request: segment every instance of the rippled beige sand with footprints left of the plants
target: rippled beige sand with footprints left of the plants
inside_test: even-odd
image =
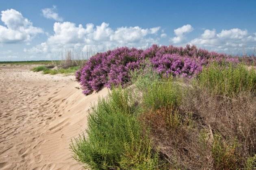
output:
[[[91,104],[108,90],[84,96],[74,76],[32,67],[0,65],[0,169],[83,169],[69,144],[86,129]]]

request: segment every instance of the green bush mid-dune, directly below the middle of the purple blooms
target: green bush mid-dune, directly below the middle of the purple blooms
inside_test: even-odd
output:
[[[161,78],[152,68],[135,71],[132,77],[137,94],[143,94],[141,100],[145,110],[177,106],[180,102],[182,90],[173,78]]]

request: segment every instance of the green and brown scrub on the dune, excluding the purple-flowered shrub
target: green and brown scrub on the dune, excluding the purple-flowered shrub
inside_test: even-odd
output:
[[[146,63],[93,106],[73,156],[92,169],[253,170],[255,73],[213,62],[187,79]]]

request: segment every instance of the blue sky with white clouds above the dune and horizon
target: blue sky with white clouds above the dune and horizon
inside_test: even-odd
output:
[[[0,61],[152,44],[256,55],[256,0],[2,0]]]

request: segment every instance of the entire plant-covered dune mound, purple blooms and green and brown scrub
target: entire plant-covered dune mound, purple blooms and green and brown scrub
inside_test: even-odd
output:
[[[112,90],[70,144],[91,169],[256,168],[255,57],[187,46],[118,48],[76,72],[86,95]]]

